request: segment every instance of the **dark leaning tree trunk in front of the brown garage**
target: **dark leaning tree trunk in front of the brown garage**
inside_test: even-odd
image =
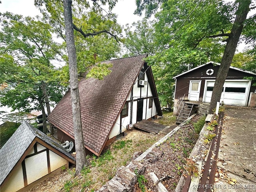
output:
[[[220,101],[222,87],[228,75],[230,64],[236,52],[236,47],[242,33],[244,21],[246,20],[246,16],[250,10],[250,3],[251,0],[239,1],[238,9],[236,11],[236,19],[231,29],[230,36],[228,37],[227,45],[221,60],[214,88],[212,90],[209,113],[212,113],[212,110],[216,108],[217,102]]]

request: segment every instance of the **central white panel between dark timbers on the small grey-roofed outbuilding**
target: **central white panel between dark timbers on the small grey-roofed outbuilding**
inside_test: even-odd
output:
[[[48,174],[46,151],[25,159],[28,184]]]

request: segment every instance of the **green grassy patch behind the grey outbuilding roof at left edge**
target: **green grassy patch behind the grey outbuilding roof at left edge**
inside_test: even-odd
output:
[[[0,128],[0,148],[10,139],[12,134],[18,129],[20,123],[6,121]]]

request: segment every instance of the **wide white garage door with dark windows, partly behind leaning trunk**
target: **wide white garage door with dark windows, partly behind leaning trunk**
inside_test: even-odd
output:
[[[210,103],[214,82],[212,80],[206,80],[204,102]],[[249,88],[250,80],[226,80],[222,88],[220,102],[223,101],[227,105],[246,106]]]

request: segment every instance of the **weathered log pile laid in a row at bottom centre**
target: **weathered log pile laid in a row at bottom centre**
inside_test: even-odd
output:
[[[132,192],[137,183],[137,175],[144,174],[145,166],[140,162],[130,162],[126,167],[118,168],[116,175],[103,185],[97,192]]]

